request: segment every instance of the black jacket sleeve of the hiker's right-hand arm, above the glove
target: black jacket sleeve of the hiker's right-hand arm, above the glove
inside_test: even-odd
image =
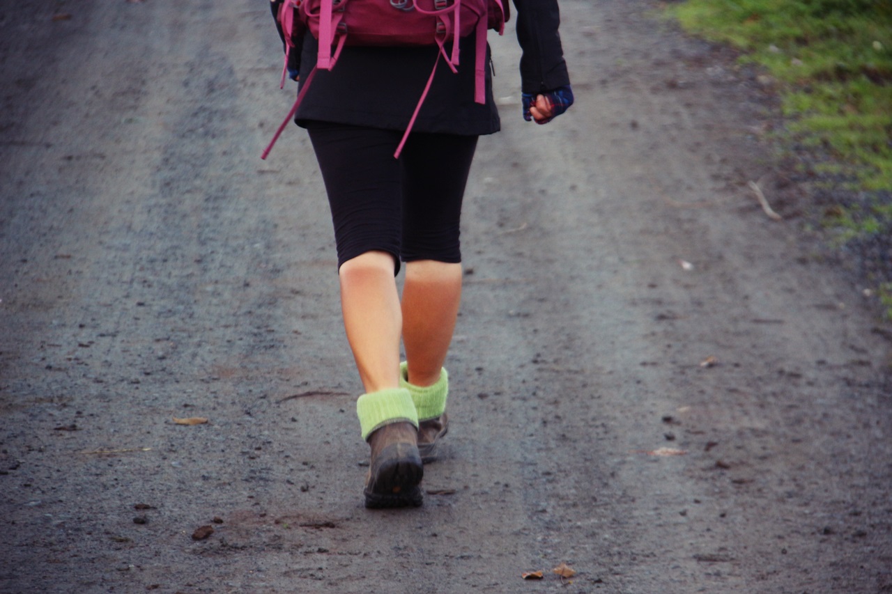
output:
[[[558,0],[514,0],[521,90],[538,94],[570,84],[558,27]]]

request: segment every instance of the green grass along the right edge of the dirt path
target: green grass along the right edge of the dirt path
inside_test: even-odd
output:
[[[685,0],[666,10],[690,33],[739,48],[740,62],[777,82],[787,120],[781,144],[813,154],[823,189],[858,196],[824,216],[835,243],[887,241],[892,0]],[[892,319],[892,278],[870,280]]]

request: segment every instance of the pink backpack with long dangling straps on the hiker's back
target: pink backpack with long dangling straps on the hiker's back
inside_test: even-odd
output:
[[[501,35],[508,20],[509,0],[285,0],[277,21],[285,34],[285,67],[282,83],[285,85],[285,68],[288,52],[300,52],[295,47],[292,34],[295,28],[306,27],[319,40],[318,60],[307,79],[303,81],[291,111],[279,126],[261,159],[266,159],[273,144],[293,119],[294,113],[310,88],[318,69],[332,70],[344,45],[439,45],[440,51],[434,62],[434,70],[427,79],[425,90],[418,100],[415,112],[409,120],[405,134],[397,147],[394,158],[399,157],[406,144],[409,131],[425,102],[427,92],[434,81],[434,73],[440,58],[446,60],[450,70],[457,72],[458,39],[475,35],[475,96],[476,103],[485,102],[486,80],[486,31],[495,29]],[[452,42],[451,52],[446,43]]]

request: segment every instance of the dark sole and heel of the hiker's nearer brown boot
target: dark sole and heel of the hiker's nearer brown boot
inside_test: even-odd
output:
[[[425,466],[414,443],[392,443],[378,454],[368,472],[363,494],[366,507],[419,507],[424,494],[418,486]]]

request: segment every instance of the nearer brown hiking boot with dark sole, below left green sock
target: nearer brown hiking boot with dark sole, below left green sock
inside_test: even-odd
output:
[[[409,422],[391,423],[368,436],[371,467],[366,476],[366,507],[418,507],[424,495],[425,467],[418,453],[417,429]]]

